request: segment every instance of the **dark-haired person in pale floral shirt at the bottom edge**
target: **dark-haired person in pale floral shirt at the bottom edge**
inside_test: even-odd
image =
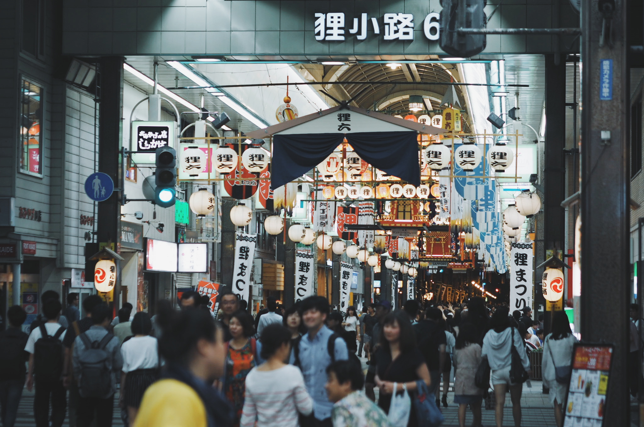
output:
[[[328,366],[325,389],[334,403],[334,427],[389,427],[383,410],[359,391],[363,385],[365,376],[359,359],[340,360]]]

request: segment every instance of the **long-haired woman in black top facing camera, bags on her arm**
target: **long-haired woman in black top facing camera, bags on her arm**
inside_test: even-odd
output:
[[[403,385],[407,392],[416,390],[416,381],[422,379],[430,385],[430,371],[427,368],[421,350],[416,345],[412,323],[403,312],[387,314],[383,320],[383,333],[380,336],[380,347],[375,352],[375,383],[380,388],[378,406],[389,412],[392,401],[393,383],[397,383],[395,392],[402,393]],[[416,413],[412,408],[408,427],[416,427]]]

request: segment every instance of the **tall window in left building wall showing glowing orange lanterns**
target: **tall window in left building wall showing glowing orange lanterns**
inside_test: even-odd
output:
[[[43,147],[43,88],[21,80],[19,146],[20,170],[42,175],[41,149]]]

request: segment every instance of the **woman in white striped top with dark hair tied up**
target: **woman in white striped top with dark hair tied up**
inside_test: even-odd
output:
[[[261,358],[266,361],[246,376],[240,427],[297,427],[298,412],[309,415],[313,411],[302,373],[285,363],[290,336],[279,323],[261,331]]]

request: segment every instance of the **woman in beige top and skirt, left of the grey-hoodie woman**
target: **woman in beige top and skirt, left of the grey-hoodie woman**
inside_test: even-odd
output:
[[[484,390],[474,383],[478,365],[481,363],[481,346],[473,325],[464,323],[454,346],[454,403],[459,405],[459,426],[465,427],[465,411],[472,410],[472,427],[481,425],[481,400]]]

